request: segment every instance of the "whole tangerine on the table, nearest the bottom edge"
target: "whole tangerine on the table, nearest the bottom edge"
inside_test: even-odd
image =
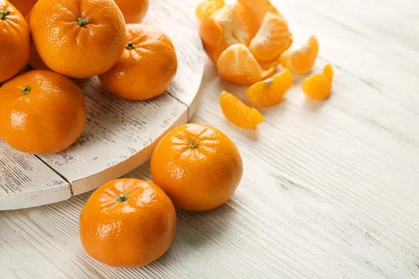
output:
[[[139,267],[161,257],[176,231],[176,211],[153,183],[110,181],[94,191],[80,213],[84,250],[103,264]]]

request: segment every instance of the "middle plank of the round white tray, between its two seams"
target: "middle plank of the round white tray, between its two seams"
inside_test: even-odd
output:
[[[135,102],[105,92],[97,77],[76,83],[89,112],[83,135],[65,151],[39,156],[66,177],[74,195],[138,167],[149,159],[160,137],[188,121],[188,107],[168,94]]]

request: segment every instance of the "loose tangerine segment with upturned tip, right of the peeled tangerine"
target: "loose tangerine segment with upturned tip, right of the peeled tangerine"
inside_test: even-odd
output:
[[[304,45],[297,50],[286,50],[281,55],[281,64],[291,73],[304,75],[311,71],[318,54],[318,41],[311,35]]]

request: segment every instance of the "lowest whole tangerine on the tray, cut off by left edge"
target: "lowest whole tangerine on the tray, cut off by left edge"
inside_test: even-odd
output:
[[[86,107],[67,77],[32,70],[0,88],[0,139],[22,152],[63,151],[82,135]]]

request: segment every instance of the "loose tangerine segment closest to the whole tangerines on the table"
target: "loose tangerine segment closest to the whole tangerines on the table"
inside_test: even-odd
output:
[[[226,119],[235,126],[254,128],[263,122],[263,116],[258,110],[244,105],[244,103],[227,91],[221,93],[220,105]]]

